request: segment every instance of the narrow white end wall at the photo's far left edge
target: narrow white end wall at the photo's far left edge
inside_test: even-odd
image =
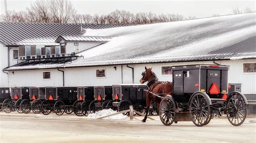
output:
[[[3,73],[3,68],[8,66],[8,47],[0,43],[0,87],[8,87],[8,75]]]

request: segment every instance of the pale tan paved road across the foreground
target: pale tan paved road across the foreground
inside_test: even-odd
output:
[[[164,126],[159,120],[96,120],[74,116],[0,113],[0,142],[255,142],[256,121],[232,126],[224,117],[204,127],[191,121]],[[141,117],[137,117],[141,118]],[[158,119],[158,117],[155,117]]]

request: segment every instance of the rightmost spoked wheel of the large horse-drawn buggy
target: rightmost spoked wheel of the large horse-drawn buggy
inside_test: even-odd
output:
[[[246,118],[246,102],[240,92],[232,92],[227,98],[227,119],[234,126],[244,123]]]

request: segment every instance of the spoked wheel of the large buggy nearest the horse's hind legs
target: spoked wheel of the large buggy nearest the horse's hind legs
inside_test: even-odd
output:
[[[159,116],[165,126],[170,126],[175,119],[175,107],[170,97],[164,97],[160,102]]]

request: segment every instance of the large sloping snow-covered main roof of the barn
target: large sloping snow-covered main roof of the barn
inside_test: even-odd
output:
[[[82,54],[84,59],[50,67],[256,58],[256,13],[102,30],[84,36],[109,36],[111,41]],[[35,68],[46,68],[48,65]],[[10,67],[9,69],[28,69]]]

